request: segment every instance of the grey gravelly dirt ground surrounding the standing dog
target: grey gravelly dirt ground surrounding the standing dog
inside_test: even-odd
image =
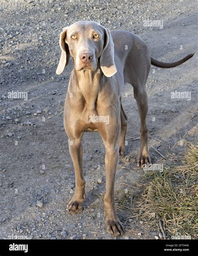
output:
[[[118,238],[107,233],[105,152],[98,133],[83,137],[84,210],[75,216],[66,212],[75,177],[63,128],[63,106],[73,63],[56,76],[59,34],[75,21],[90,19],[109,29],[135,32],[157,60],[172,62],[195,52],[176,68],[152,66],[147,80],[150,156],[152,162],[162,163],[162,154],[166,167],[171,156],[185,150],[185,141],[197,139],[196,1],[1,2],[0,238],[154,239],[157,230],[146,230],[144,223],[128,219],[119,209],[126,232]],[[163,20],[163,28],[143,26],[147,18]],[[28,92],[28,100],[9,99],[12,90]],[[171,98],[175,90],[190,92],[191,99]],[[128,128],[125,157],[116,176],[117,196],[127,185],[140,183],[144,175],[144,170],[136,167],[140,118],[132,86],[126,84],[122,102]],[[141,236],[137,235],[140,232]]]

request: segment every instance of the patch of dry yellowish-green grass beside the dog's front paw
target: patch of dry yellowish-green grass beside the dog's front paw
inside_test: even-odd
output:
[[[163,237],[190,235],[198,238],[198,144],[188,143],[179,164],[164,168],[162,173],[148,171],[145,184],[129,188],[122,194],[117,208],[127,218],[142,220],[148,228],[162,232]],[[139,193],[137,201],[133,196]]]

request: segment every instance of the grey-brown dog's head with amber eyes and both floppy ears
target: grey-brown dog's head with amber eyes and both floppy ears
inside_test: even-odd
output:
[[[76,22],[63,29],[59,43],[62,52],[57,75],[68,65],[70,55],[76,71],[95,71],[99,62],[105,76],[110,77],[117,72],[111,34],[100,24],[94,21]]]

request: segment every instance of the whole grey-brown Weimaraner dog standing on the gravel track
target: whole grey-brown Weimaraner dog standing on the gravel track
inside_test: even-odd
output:
[[[124,83],[132,84],[140,113],[140,155],[138,167],[150,162],[147,148],[146,81],[150,66],[173,68],[184,63],[190,54],[174,63],[163,63],[150,56],[145,42],[125,30],[104,28],[94,21],[81,21],[63,29],[60,34],[61,58],[56,70],[63,72],[74,60],[64,110],[64,127],[69,137],[69,152],[74,163],[76,189],[67,208],[70,214],[80,213],[85,200],[83,149],[85,131],[97,131],[104,142],[106,192],[104,214],[107,231],[123,235],[124,227],[114,207],[114,181],[119,157],[124,154],[127,115],[122,107]],[[107,120],[109,120],[107,122]]]

